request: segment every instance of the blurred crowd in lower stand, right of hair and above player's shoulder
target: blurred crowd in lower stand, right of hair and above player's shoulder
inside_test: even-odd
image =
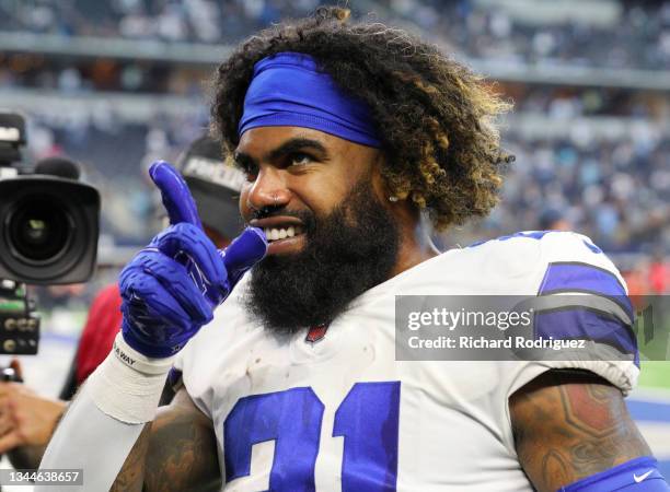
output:
[[[501,204],[480,234],[553,229],[561,216],[609,253],[670,251],[670,140],[639,132],[625,139],[528,140],[507,134],[517,155]]]

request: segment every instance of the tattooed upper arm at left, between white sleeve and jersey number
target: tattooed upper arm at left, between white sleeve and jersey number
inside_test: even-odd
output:
[[[111,491],[181,492],[220,487],[211,421],[182,388],[146,425]]]

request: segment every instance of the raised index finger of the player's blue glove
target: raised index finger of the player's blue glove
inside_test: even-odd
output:
[[[170,223],[187,222],[201,230],[198,209],[182,175],[165,161],[157,161],[151,164],[149,176],[161,191]]]

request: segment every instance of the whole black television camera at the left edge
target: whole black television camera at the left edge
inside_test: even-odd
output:
[[[100,230],[100,194],[77,164],[22,162],[25,120],[0,110],[0,353],[35,354],[39,317],[26,284],[86,281]]]

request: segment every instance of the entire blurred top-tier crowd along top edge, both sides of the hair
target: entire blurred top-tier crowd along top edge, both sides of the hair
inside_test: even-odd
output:
[[[337,2],[2,0],[0,31],[230,43],[282,17],[303,15],[322,3]],[[588,4],[578,0],[573,5],[544,2],[555,3],[546,19],[542,17],[542,5],[529,15],[520,3],[367,0],[351,2],[351,7],[358,15],[383,11],[388,20],[411,22],[425,35],[474,58],[610,68],[658,69],[670,65],[670,1],[601,1],[600,15],[591,15]]]

